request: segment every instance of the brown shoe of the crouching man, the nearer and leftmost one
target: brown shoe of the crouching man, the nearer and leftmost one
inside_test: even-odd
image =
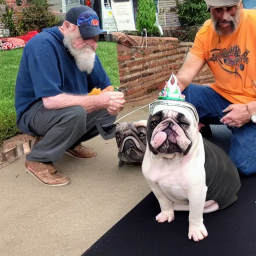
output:
[[[36,177],[41,183],[49,186],[66,186],[71,180],[58,172],[51,163],[25,160],[27,173]]]

